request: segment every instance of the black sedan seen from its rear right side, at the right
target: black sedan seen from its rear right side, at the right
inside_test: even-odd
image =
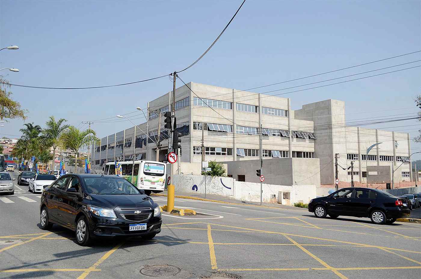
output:
[[[381,190],[343,188],[329,196],[312,199],[309,212],[319,218],[329,215],[370,217],[375,224],[392,224],[397,218],[408,217],[410,209],[405,199],[399,199]]]

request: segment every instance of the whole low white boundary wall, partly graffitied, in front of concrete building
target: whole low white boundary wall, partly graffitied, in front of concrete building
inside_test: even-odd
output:
[[[177,192],[205,193],[204,175],[173,175],[172,183]],[[277,202],[279,192],[290,193],[290,204],[308,203],[316,197],[316,185],[262,184],[263,202]],[[260,183],[240,182],[231,177],[206,177],[206,193],[229,196],[240,201],[260,201]]]

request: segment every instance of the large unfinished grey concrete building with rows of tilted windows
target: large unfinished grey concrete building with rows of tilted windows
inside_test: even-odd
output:
[[[201,162],[203,134],[205,161],[224,161],[227,164],[229,161],[258,161],[262,153],[264,159],[280,158],[277,175],[290,176],[289,184],[297,181],[293,179],[292,169],[303,175],[309,173],[308,179],[311,180],[310,176],[314,174],[310,168],[313,171],[314,162],[317,161],[319,168],[316,168],[316,172],[320,172],[320,177],[316,182],[331,185],[335,178],[335,153],[339,154],[339,164],[343,167],[348,167],[351,162],[347,158],[355,161],[354,180],[359,182],[366,179],[366,163],[368,166],[393,165],[396,169],[402,157],[406,160],[405,156],[410,155],[409,134],[346,126],[345,103],[342,101],[330,99],[315,102],[294,111],[291,110],[289,98],[193,82],[187,85],[177,88],[175,92],[177,129],[183,135],[179,156],[181,162]],[[100,146],[92,147],[92,167],[100,169],[107,161],[128,161],[133,157],[155,160],[158,115],[171,110],[171,98],[172,94],[168,92],[148,102],[148,123],[103,137]],[[163,117],[161,123],[163,147],[158,157],[164,161],[168,153],[168,134],[163,129]],[[363,155],[366,148],[376,142],[383,143],[379,149],[371,150],[368,160],[365,160]],[[302,159],[285,161],[284,158]],[[290,168],[281,167],[285,162]],[[230,169],[237,167],[238,164],[229,164],[227,173],[234,176],[234,169],[232,173]],[[339,180],[349,182],[351,176],[348,174],[349,170],[340,169]],[[394,174],[396,181],[410,180],[410,163],[403,164]],[[254,176],[252,181],[256,182],[255,169],[251,176]],[[306,177],[301,175],[301,178],[303,185],[309,184]]]

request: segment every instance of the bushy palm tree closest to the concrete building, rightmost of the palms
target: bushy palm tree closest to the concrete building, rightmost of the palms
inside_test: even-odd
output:
[[[64,149],[70,149],[75,152],[75,173],[77,172],[77,156],[79,155],[79,149],[89,146],[96,142],[100,145],[100,139],[96,137],[96,132],[87,129],[85,131],[80,131],[75,126],[69,126],[69,128],[64,131],[60,138],[61,145]]]

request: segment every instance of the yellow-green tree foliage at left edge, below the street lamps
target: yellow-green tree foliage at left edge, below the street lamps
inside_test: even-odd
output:
[[[27,117],[25,113],[27,110],[21,109],[21,104],[19,102],[13,101],[11,98],[12,92],[9,91],[10,83],[8,80],[3,79],[3,76],[0,76],[0,119],[15,119],[21,118],[25,120]]]

